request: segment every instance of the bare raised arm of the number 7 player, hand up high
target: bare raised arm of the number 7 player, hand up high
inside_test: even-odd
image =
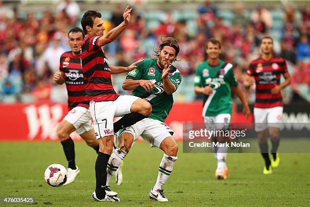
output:
[[[129,9],[129,6],[127,6],[123,14],[124,21],[121,24],[119,24],[117,27],[111,29],[106,35],[99,38],[98,40],[99,47],[114,41],[116,38],[118,38],[118,36],[120,36],[120,34],[123,32],[123,30],[126,28],[128,23],[130,22],[131,11],[132,11],[132,8]]]

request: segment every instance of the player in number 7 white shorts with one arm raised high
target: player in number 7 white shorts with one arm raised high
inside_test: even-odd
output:
[[[96,11],[87,11],[81,20],[82,28],[86,33],[81,47],[81,63],[84,76],[88,83],[85,86],[86,100],[90,100],[90,111],[94,121],[95,135],[99,141],[99,153],[95,164],[96,189],[92,198],[96,201],[120,201],[116,196],[106,194],[107,163],[114,161],[110,154],[113,150],[113,134],[120,129],[131,126],[146,118],[151,113],[151,105],[146,100],[132,95],[119,96],[113,89],[111,74],[129,72],[135,69],[137,64],[129,67],[115,67],[108,64],[102,46],[114,41],[130,22],[132,9],[127,6],[123,17],[124,21],[113,28],[106,35],[101,19],[101,14]],[[115,122],[114,117],[122,119]],[[124,156],[126,148],[115,149],[117,156]]]

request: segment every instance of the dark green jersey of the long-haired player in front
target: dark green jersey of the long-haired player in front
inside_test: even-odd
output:
[[[164,91],[162,74],[163,71],[157,66],[156,59],[144,59],[143,62],[137,65],[137,68],[128,73],[126,79],[151,80],[154,83],[154,89],[149,92],[138,86],[131,94],[145,98],[150,102],[152,113],[148,118],[164,122],[172,108],[173,95],[168,95]],[[182,80],[180,71],[171,66],[168,77],[171,83],[178,88]]]

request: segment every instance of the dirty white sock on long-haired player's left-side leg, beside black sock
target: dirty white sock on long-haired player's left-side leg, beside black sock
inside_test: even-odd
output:
[[[114,149],[114,152],[111,154],[111,157],[106,167],[107,172],[106,185],[109,185],[112,175],[114,175],[116,171],[119,169],[126,155],[127,153],[121,150],[120,148]]]

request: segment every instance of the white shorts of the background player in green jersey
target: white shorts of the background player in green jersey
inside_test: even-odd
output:
[[[230,119],[230,114],[219,114],[215,117],[204,117],[205,127],[207,130],[228,129]]]

